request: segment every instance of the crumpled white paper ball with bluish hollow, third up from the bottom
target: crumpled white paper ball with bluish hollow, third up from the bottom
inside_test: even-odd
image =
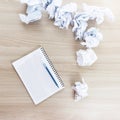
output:
[[[85,42],[81,42],[81,45],[85,45],[87,48],[94,48],[99,45],[103,35],[97,28],[91,27],[84,33],[83,39]]]

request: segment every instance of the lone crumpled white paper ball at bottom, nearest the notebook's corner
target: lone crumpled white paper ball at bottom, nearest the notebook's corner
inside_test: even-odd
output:
[[[75,82],[72,89],[74,90],[75,101],[79,101],[88,96],[88,85],[84,81],[84,78],[82,78],[82,83]]]

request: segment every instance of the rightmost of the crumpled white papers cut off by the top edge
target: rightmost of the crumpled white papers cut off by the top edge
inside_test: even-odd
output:
[[[61,6],[62,0],[53,0],[51,4],[46,8],[47,13],[49,14],[49,19],[53,19],[55,17],[55,12]]]

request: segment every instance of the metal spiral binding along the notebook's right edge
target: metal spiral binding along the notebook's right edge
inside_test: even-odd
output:
[[[54,68],[54,66],[53,66],[51,60],[49,59],[46,51],[45,51],[44,48],[42,48],[42,47],[41,47],[40,49],[41,49],[42,53],[44,54],[46,60],[48,61],[49,65],[51,66],[52,70],[54,71],[54,73],[55,73],[56,77],[58,78],[60,84],[62,85],[62,87],[64,87],[64,83],[63,83],[62,79],[60,78],[60,76],[58,75],[56,69]]]

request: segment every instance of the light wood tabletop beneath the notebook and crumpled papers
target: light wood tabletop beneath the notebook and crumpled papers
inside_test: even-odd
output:
[[[19,0],[0,1],[0,120],[120,120],[120,1],[64,0],[109,7],[116,21],[98,28],[104,35],[95,52],[97,62],[79,67],[75,52],[79,41],[71,28],[61,30],[44,13],[41,21],[25,25],[18,14],[25,12]],[[11,63],[42,45],[65,83],[65,89],[35,106]],[[89,96],[74,102],[72,84],[85,78]]]

